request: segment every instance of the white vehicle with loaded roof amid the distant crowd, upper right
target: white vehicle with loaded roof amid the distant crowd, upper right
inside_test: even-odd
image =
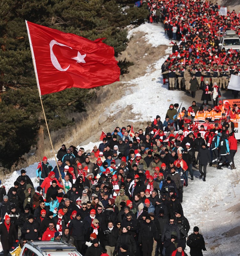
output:
[[[234,30],[226,30],[226,34],[222,36],[219,49],[222,50],[223,47],[226,51],[231,48],[237,52],[240,50],[240,39]]]

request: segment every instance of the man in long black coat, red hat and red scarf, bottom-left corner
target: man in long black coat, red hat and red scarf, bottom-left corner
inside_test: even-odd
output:
[[[3,221],[3,220],[2,220]],[[0,225],[0,236],[1,243],[3,246],[3,255],[7,256],[9,250],[13,246],[13,241],[18,242],[18,233],[13,224],[10,223],[10,217],[8,215],[5,216],[5,220]]]

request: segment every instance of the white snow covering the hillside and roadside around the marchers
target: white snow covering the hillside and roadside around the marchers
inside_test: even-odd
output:
[[[156,47],[161,44],[169,45],[170,41],[165,37],[161,25],[144,24],[129,32],[129,38],[136,32],[143,31],[146,34],[146,40]],[[168,48],[166,54],[171,52]],[[153,120],[156,115],[165,116],[170,103],[180,102],[183,92],[168,91],[167,86],[162,84],[160,68],[165,59],[160,59],[148,68],[145,76],[138,77],[126,83],[125,96],[111,105],[110,115],[115,115],[128,105],[132,105],[132,112],[135,119],[148,121]],[[153,69],[156,71],[152,71]],[[134,88],[132,85],[135,84]],[[183,102],[190,106],[189,97],[185,97]],[[134,104],[132,104],[134,102]],[[109,108],[110,109],[110,108]],[[135,120],[127,120],[135,122]],[[113,127],[114,128],[114,127]],[[85,149],[92,150],[94,145],[100,142],[90,142],[88,145],[81,145]],[[189,181],[189,186],[184,188],[183,193],[183,211],[185,217],[190,222],[190,233],[193,227],[198,226],[206,242],[207,251],[204,255],[240,255],[240,157],[239,152],[235,156],[236,170],[231,171],[228,168],[216,170],[213,167],[207,167],[206,182],[199,180],[199,172],[194,172],[194,180]],[[54,159],[49,159],[54,167]],[[33,180],[35,187],[38,186],[35,180],[35,170],[38,163],[28,166],[25,170],[27,175]],[[13,182],[20,175],[20,170],[13,172],[2,183],[6,189],[12,187]],[[186,248],[189,254],[189,247]]]

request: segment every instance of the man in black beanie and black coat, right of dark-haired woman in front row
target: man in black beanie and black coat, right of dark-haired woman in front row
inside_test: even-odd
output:
[[[157,244],[158,230],[156,225],[151,221],[151,217],[148,215],[140,228],[138,243],[142,245],[143,255],[151,256],[153,244]]]

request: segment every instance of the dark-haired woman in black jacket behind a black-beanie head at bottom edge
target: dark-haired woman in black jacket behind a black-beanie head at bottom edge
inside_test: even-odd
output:
[[[132,253],[136,252],[136,243],[132,235],[129,234],[128,227],[122,228],[122,233],[118,237],[117,243],[115,245],[115,251],[119,252],[122,244],[128,245],[128,250]]]

